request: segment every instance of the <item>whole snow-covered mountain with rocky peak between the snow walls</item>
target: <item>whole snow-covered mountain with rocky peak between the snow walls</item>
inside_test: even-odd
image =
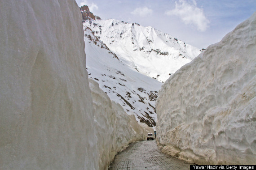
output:
[[[129,115],[154,127],[161,82],[201,51],[152,27],[101,20],[87,6],[80,9],[89,77]]]

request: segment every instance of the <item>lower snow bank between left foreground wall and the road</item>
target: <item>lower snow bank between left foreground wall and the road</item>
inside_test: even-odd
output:
[[[99,169],[107,170],[117,152],[133,141],[145,140],[147,133],[154,130],[145,123],[139,125],[134,115],[127,115],[121,105],[111,102],[96,81],[89,79],[89,85],[95,109]]]

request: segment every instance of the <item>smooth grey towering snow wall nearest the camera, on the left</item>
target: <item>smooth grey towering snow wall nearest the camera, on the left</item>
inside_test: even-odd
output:
[[[1,0],[0,16],[0,169],[98,169],[75,0]]]

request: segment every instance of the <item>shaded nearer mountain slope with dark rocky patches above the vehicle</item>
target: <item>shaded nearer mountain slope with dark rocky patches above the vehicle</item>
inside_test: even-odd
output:
[[[124,107],[137,121],[154,127],[155,100],[162,83],[129,68],[84,26],[86,66],[89,77],[97,81],[111,100]]]

